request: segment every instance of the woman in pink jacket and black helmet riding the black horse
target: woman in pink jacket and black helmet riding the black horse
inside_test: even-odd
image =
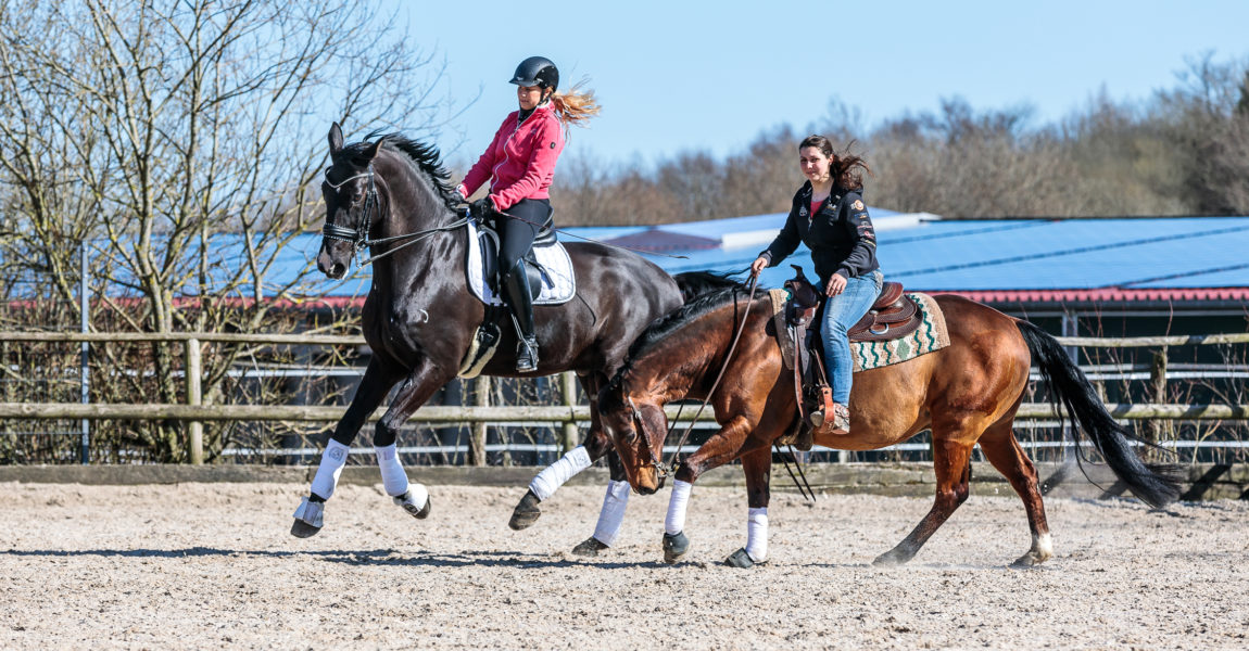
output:
[[[592,91],[556,92],[560,71],[548,59],[531,56],[512,75],[520,110],[508,113],[477,163],[465,175],[456,192],[467,198],[490,181],[490,193],[472,202],[473,211],[496,219],[500,268],[507,303],[516,321],[520,344],[516,370],[527,373],[538,365],[533,335],[533,298],[525,273],[525,256],[538,232],[551,226],[551,180],[563,151],[565,128],[598,113]]]

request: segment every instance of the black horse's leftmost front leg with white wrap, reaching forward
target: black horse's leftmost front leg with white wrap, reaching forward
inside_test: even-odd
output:
[[[310,538],[321,531],[325,500],[333,495],[333,490],[338,485],[338,475],[342,473],[342,466],[347,464],[351,441],[356,439],[365,420],[382,403],[396,380],[397,375],[385,368],[377,357],[368,362],[365,375],[356,388],[356,395],[351,398],[351,405],[347,407],[347,413],[338,420],[337,427],[333,428],[333,435],[326,441],[309,495],[304,498],[295,511],[291,535]]]

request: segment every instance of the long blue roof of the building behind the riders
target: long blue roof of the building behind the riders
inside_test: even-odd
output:
[[[897,213],[873,210],[878,223]],[[904,217],[904,216],[901,216]],[[736,217],[661,228],[701,237],[779,229],[783,213]],[[923,291],[974,289],[1088,289],[1249,287],[1249,217],[1177,217],[1123,219],[901,219],[903,227],[878,229],[878,258],[889,279]],[[565,242],[580,237],[612,239],[649,227],[567,228]],[[575,237],[580,236],[580,237]],[[234,268],[237,237],[222,236],[221,268]],[[328,288],[330,296],[363,296],[370,268],[353,269],[340,282],[315,269],[318,233],[297,236],[265,274],[266,289],[285,286],[301,273],[310,292]],[[766,241],[737,248],[673,252],[686,259],[648,254],[669,273],[711,269],[744,271]],[[781,267],[767,269],[763,283],[779,287],[792,276],[791,263],[814,277],[811,253],[799,247]],[[269,293],[269,292],[266,292]]]

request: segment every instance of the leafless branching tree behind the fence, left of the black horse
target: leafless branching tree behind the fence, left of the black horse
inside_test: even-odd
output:
[[[292,247],[323,215],[327,125],[436,135],[441,75],[377,1],[0,0],[4,262],[67,301],[87,242],[95,309],[129,329],[294,327],[275,306],[320,292]],[[210,394],[242,352],[206,358]],[[175,353],[117,377],[131,399],[179,399]],[[174,428],[142,436],[181,459]]]

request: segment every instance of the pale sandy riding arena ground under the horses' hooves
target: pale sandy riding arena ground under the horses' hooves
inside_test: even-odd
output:
[[[523,489],[431,486],[417,521],[342,486],[325,530],[287,533],[306,486],[2,484],[2,649],[1247,649],[1249,503],[1047,500],[1055,556],[1027,551],[1013,495],[973,494],[903,567],[868,564],[927,499],[778,495],[769,564],[741,489],[694,486],[691,559],[661,562],[664,490],[621,540],[602,488],[566,486],[526,531]]]

